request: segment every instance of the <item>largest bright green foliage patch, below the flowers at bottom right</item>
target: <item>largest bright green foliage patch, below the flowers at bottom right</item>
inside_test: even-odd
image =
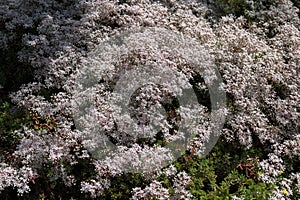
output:
[[[186,171],[192,178],[188,190],[193,199],[268,199],[272,184],[259,181],[257,158],[259,150],[254,148],[236,151],[225,141],[217,143],[213,151],[204,158],[186,154],[174,162],[179,171]],[[251,157],[250,157],[251,156]],[[172,193],[171,180],[165,175],[159,178]]]

